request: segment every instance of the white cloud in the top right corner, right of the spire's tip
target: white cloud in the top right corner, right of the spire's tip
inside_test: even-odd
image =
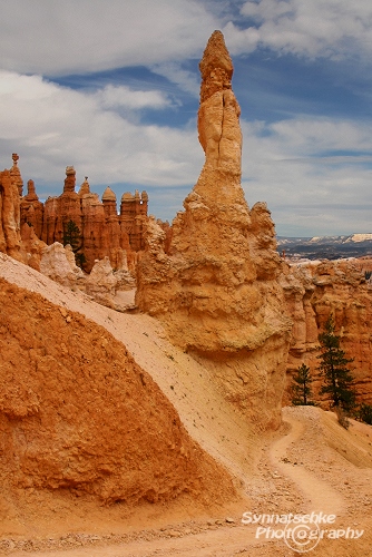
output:
[[[235,52],[263,46],[310,58],[371,55],[369,0],[249,0],[241,12],[252,25],[242,29],[229,22],[226,27]],[[251,29],[254,32],[248,35]]]

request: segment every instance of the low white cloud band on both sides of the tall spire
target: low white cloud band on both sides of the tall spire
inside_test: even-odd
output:
[[[123,104],[137,113],[164,108],[163,91],[139,91],[143,95],[136,100],[123,87],[72,90],[40,76],[6,71],[0,84],[2,166],[9,167],[11,153],[19,153],[23,179],[33,178],[39,194],[58,195],[65,167],[75,165],[78,180],[88,175],[94,189],[121,184],[120,195],[128,189],[124,184],[157,187],[157,199],[166,195],[167,203],[154,198],[151,212],[161,218],[172,219],[176,206],[182,208],[204,162],[195,119],[177,129],[134,124],[119,110]],[[370,231],[368,124],[297,117],[273,124],[243,120],[242,128],[247,202],[252,206],[266,201],[278,233]],[[161,189],[169,194],[161,196]]]

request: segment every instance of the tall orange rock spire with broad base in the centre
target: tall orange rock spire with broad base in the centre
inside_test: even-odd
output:
[[[136,302],[165,323],[175,343],[204,359],[251,421],[276,427],[292,323],[270,212],[264,203],[249,212],[241,186],[239,107],[219,31],[199,68],[205,164],[173,222],[168,250],[166,232],[149,222]]]

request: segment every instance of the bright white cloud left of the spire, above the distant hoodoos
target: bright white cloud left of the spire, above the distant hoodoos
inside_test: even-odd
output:
[[[25,180],[62,182],[67,165],[96,184],[167,186],[197,178],[203,152],[196,129],[134,124],[115,110],[119,102],[135,109],[163,107],[161,92],[138,91],[137,102],[128,90],[106,89],[104,107],[97,92],[59,87],[39,76],[2,71],[0,82],[1,160],[9,166],[11,153],[18,153]]]

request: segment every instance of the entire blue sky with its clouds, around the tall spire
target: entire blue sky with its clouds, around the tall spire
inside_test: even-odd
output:
[[[370,0],[0,0],[1,166],[41,198],[65,167],[172,221],[204,162],[198,61],[224,32],[242,185],[278,235],[372,232]]]

